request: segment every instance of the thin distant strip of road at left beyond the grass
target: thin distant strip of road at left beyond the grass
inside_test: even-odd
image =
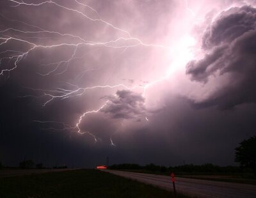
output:
[[[14,176],[22,176],[28,174],[37,174],[37,173],[45,173],[45,172],[61,172],[61,171],[70,171],[74,169],[31,169],[31,170],[1,170],[0,178],[9,178]]]

